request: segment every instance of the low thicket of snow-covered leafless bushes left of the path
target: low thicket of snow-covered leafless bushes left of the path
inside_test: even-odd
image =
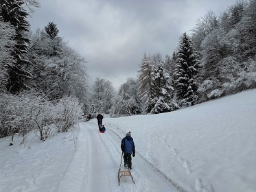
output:
[[[19,133],[24,142],[28,132],[38,130],[44,141],[55,132],[67,132],[82,118],[82,107],[73,97],[54,103],[35,93],[0,96],[0,137]]]

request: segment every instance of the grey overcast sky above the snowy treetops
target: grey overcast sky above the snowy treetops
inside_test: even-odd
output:
[[[236,0],[42,0],[28,18],[32,31],[56,23],[59,36],[88,61],[87,73],[116,90],[137,77],[143,53],[172,55],[180,36],[209,10],[216,15]]]

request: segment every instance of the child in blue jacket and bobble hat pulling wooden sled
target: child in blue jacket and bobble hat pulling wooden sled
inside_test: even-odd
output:
[[[132,156],[135,157],[135,142],[130,132],[121,140],[121,150],[124,152],[124,166],[132,169]]]

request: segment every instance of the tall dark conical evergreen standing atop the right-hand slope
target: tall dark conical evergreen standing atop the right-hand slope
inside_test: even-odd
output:
[[[199,56],[186,33],[183,34],[176,53],[174,69],[176,97],[182,106],[193,105],[198,99],[196,75],[198,73]]]

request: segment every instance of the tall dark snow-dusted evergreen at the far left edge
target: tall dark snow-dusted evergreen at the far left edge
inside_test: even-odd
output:
[[[24,59],[23,55],[27,52],[28,43],[30,40],[25,37],[24,32],[29,31],[30,24],[25,21],[28,16],[27,12],[23,9],[24,1],[22,0],[5,0],[1,6],[1,19],[4,22],[10,22],[16,30],[14,35],[14,49],[12,56],[14,62],[8,63],[8,84],[6,86],[10,93],[19,93],[22,88],[25,88],[25,80],[32,77],[26,71],[29,61]]]

